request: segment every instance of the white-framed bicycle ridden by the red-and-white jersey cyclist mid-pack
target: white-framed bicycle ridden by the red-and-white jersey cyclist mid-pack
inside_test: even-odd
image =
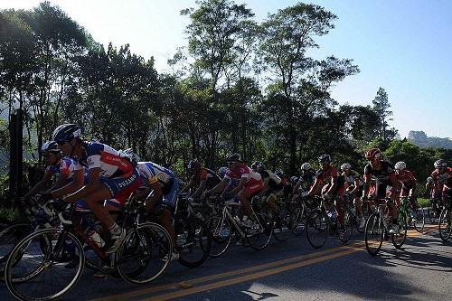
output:
[[[239,206],[239,202],[225,202],[221,214],[213,215],[206,221],[212,240],[218,247],[212,249],[212,258],[221,257],[229,249],[234,233],[244,247],[261,250],[268,246],[273,233],[273,219],[265,212],[255,213],[251,207],[254,225],[245,227],[237,215]]]

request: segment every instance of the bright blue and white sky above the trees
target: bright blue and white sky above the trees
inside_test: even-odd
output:
[[[0,9],[31,9],[39,0],[1,0]],[[187,44],[187,16],[194,0],[51,0],[97,42],[126,43],[157,71],[177,47]],[[289,0],[247,0],[258,22],[268,13],[295,5]],[[393,111],[392,127],[401,137],[410,130],[452,137],[452,1],[449,0],[306,0],[336,14],[335,28],[316,39],[316,59],[334,55],[353,59],[361,72],[332,89],[340,104],[372,105],[381,87]]]

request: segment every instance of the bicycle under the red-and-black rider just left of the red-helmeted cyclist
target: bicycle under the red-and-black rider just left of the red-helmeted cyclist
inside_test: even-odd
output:
[[[306,220],[306,238],[309,244],[315,248],[321,248],[329,235],[336,236],[342,242],[347,242],[352,236],[350,216],[344,211],[344,230],[340,231],[340,223],[337,220],[337,211],[334,202],[330,203],[325,198],[315,197],[318,207],[309,212]],[[325,206],[325,203],[327,205]],[[326,209],[328,208],[328,209]]]

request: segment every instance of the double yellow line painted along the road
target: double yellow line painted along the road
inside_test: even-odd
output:
[[[426,229],[425,232],[429,232],[435,229]],[[416,231],[409,231],[408,236],[416,237],[421,233]],[[337,259],[349,254],[353,254],[355,252],[361,251],[364,249],[363,241],[354,243],[350,246],[340,246],[332,249],[324,249],[321,251],[317,251],[315,253],[306,254],[302,256],[297,256],[290,259],[283,259],[278,261],[269,262],[266,264],[250,267],[250,268],[241,268],[238,270],[233,270],[225,273],[220,273],[207,277],[197,277],[183,282],[176,282],[168,285],[158,286],[158,287],[149,287],[144,289],[138,289],[135,291],[100,297],[94,299],[92,301],[113,301],[113,300],[127,300],[131,297],[139,297],[143,296],[141,300],[167,300],[180,296],[188,296],[195,293],[199,293],[202,291],[215,289],[219,287],[228,287],[234,284],[238,284],[243,281],[253,280],[259,277],[266,277],[274,274],[278,274],[281,272],[285,272],[294,268],[302,268],[306,267],[318,262],[323,262],[326,260]],[[241,275],[241,276],[240,276]],[[224,280],[221,280],[224,279]],[[213,280],[220,280],[212,283]],[[201,285],[199,287],[195,287],[194,285],[207,283]],[[181,289],[184,288],[184,289]],[[173,291],[171,291],[173,290]],[[175,291],[174,291],[175,290]],[[170,291],[163,293],[165,291]],[[162,292],[163,294],[157,296],[148,296],[149,294],[155,294]],[[147,296],[146,296],[147,295]]]

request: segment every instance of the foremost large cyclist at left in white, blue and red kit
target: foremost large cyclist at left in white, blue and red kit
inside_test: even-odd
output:
[[[115,252],[124,237],[126,230],[121,229],[108,213],[104,206],[105,200],[115,198],[117,202],[124,203],[127,197],[141,184],[138,171],[118,151],[99,142],[84,141],[81,128],[75,124],[63,124],[55,128],[52,139],[58,144],[63,155],[70,156],[75,170],[82,170],[83,166],[89,169],[88,183],[80,190],[62,198],[65,202],[83,200],[89,210],[99,219],[104,229],[111,236],[110,246],[106,253]],[[52,198],[60,198],[68,193],[62,187],[52,192]]]

